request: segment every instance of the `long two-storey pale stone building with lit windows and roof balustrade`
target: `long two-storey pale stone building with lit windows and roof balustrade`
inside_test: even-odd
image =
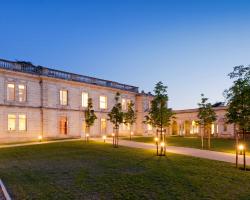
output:
[[[85,132],[84,110],[88,98],[92,98],[98,117],[90,135],[109,135],[113,125],[107,113],[117,92],[121,94],[124,111],[129,101],[135,103],[137,121],[132,131],[136,135],[150,131],[152,128],[142,121],[152,95],[139,93],[138,87],[1,59],[0,140],[80,137]],[[129,129],[122,124],[120,134],[129,134]]]

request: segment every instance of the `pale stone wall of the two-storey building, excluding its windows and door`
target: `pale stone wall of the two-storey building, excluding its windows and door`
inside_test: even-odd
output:
[[[27,101],[18,102],[7,101],[7,83],[22,83],[27,87]],[[60,105],[59,91],[68,91],[68,105]],[[137,121],[133,126],[135,134],[143,135],[146,133],[146,126],[142,123],[146,110],[144,108],[148,95],[118,90],[114,88],[102,87],[92,84],[66,81],[49,77],[39,77],[21,72],[12,72],[0,69],[0,140],[5,141],[24,141],[37,140],[39,135],[43,137],[80,137],[83,135],[84,108],[82,108],[81,94],[86,92],[93,100],[93,106],[98,119],[91,127],[92,136],[101,135],[101,118],[108,119],[107,113],[114,105],[114,97],[117,92],[121,98],[129,99],[135,103],[137,110]],[[16,94],[18,93],[16,87]],[[18,94],[17,94],[18,95]],[[107,97],[107,109],[100,109],[99,96]],[[152,96],[151,96],[152,97]],[[8,131],[8,114],[26,114],[26,131]],[[67,135],[60,134],[60,117],[66,117],[68,121]],[[18,120],[16,120],[18,127]],[[113,132],[113,125],[107,120],[106,134]],[[120,128],[120,135],[128,135],[129,130]]]

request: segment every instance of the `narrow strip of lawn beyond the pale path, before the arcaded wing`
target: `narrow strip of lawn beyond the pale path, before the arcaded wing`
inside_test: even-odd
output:
[[[123,139],[129,140],[129,138]],[[133,137],[132,140],[136,142],[154,143],[154,137]],[[169,136],[167,137],[167,145],[201,149],[201,140],[198,137]],[[248,140],[247,146],[250,148],[250,140]],[[212,138],[210,150],[235,153],[235,140]],[[250,154],[249,151],[248,154]]]

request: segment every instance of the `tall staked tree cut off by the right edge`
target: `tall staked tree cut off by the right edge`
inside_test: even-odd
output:
[[[250,131],[250,67],[236,66],[233,72],[229,73],[230,79],[234,80],[233,85],[225,90],[227,99],[227,122],[234,124],[243,136],[244,143],[244,168],[246,169],[245,149],[246,132]],[[234,128],[235,129],[235,128]],[[236,140],[236,166],[238,165],[238,133],[235,133]]]

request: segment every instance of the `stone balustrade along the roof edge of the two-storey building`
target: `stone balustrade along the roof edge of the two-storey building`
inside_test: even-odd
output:
[[[131,92],[136,92],[136,93],[138,92],[138,87],[135,87],[135,86],[121,84],[121,83],[117,83],[113,81],[93,78],[93,77],[79,75],[79,74],[73,74],[69,72],[42,67],[42,66],[34,66],[31,63],[27,63],[27,62],[13,62],[13,61],[0,59],[0,68],[34,74],[38,76],[47,76],[47,77],[59,78],[59,79],[64,79],[64,80],[69,80],[69,81],[76,81],[76,82],[89,83],[89,84],[94,84],[94,85],[99,85],[99,86],[111,87],[111,88],[116,88],[120,90],[127,90]]]

